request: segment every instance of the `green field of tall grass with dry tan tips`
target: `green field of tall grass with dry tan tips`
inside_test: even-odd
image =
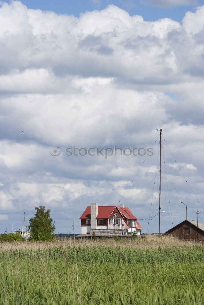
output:
[[[170,237],[0,244],[0,304],[204,304],[204,247]]]

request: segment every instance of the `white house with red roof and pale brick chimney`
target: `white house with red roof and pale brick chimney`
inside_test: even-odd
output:
[[[138,235],[143,229],[137,218],[124,204],[121,206],[98,206],[91,203],[80,217],[81,234],[106,235],[129,235],[134,231]]]

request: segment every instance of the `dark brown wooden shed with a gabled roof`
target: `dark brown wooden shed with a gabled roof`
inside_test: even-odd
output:
[[[181,239],[204,239],[204,222],[198,222],[197,225],[195,220],[184,220],[164,234]]]

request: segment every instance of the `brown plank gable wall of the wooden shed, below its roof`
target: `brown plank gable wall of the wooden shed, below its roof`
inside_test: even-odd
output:
[[[184,228],[190,228],[190,234],[184,233]],[[183,221],[176,227],[170,229],[166,234],[182,239],[204,239],[204,232],[190,222]]]

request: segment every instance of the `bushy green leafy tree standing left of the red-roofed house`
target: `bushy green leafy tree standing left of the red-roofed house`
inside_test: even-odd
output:
[[[55,222],[52,224],[50,210],[46,210],[45,206],[35,207],[35,210],[35,217],[30,219],[29,224],[31,238],[34,240],[54,239]]]

